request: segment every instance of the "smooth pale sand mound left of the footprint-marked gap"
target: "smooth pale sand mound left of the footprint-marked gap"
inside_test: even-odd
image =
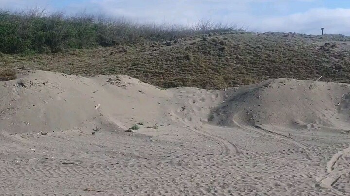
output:
[[[163,116],[162,97],[167,97],[165,90],[128,76],[84,78],[44,71],[1,82],[0,94],[0,130],[10,133],[156,123]]]

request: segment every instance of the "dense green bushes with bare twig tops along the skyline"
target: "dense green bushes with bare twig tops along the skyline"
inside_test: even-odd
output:
[[[124,18],[105,19],[85,13],[67,17],[32,9],[0,10],[0,52],[62,52],[100,46],[166,41],[203,33],[240,31],[235,25],[200,21],[192,26],[139,24]]]

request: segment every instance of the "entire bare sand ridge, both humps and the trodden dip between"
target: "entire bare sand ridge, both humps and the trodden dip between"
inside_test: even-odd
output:
[[[128,76],[84,78],[36,71],[0,83],[0,130],[47,132],[80,127],[197,124],[274,125],[349,130],[349,85],[292,79],[239,89],[161,90]],[[223,101],[224,100],[224,101]]]

